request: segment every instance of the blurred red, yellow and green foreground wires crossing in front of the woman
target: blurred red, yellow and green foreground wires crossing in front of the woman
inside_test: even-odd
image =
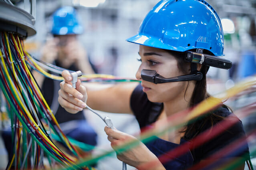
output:
[[[196,119],[200,119],[200,117],[207,114],[212,109],[215,109],[219,105],[222,104],[223,101],[229,100],[235,100],[238,96],[250,94],[252,92],[256,92],[255,89],[256,86],[256,77],[250,77],[247,80],[244,80],[241,83],[238,83],[236,86],[216,95],[215,97],[210,97],[201,103],[199,103],[194,108],[189,108],[185,111],[181,111],[179,113],[175,113],[174,115],[171,115],[168,117],[167,122],[161,123],[161,130],[152,130],[152,129],[142,129],[142,133],[138,138],[144,143],[147,143],[151,140],[155,139],[155,136],[161,136],[161,134],[172,131],[177,128],[183,127],[187,123],[193,123],[196,121]],[[245,105],[242,107],[242,109],[239,109],[234,112],[235,115],[237,115],[240,119],[248,117],[251,114],[254,114],[256,110],[256,102],[252,101],[251,103],[248,103],[248,105]],[[222,132],[224,132],[225,129],[228,129],[232,127],[235,123],[237,123],[239,119],[234,119],[234,117],[230,116],[226,119],[220,121],[218,125],[213,126],[209,130],[206,130],[202,134],[199,134],[195,138],[193,138],[193,148],[197,148],[198,146],[208,142],[209,140],[213,139],[214,137],[218,136]],[[154,127],[152,126],[149,127]],[[210,134],[210,135],[209,135]],[[214,152],[212,155],[210,155],[208,158],[210,161],[208,162],[200,162],[199,164],[195,164],[191,169],[234,169],[241,164],[244,163],[246,160],[249,169],[253,169],[252,163],[250,162],[250,158],[248,158],[248,155],[241,156],[239,158],[234,158],[234,160],[231,160],[228,164],[225,164],[222,162],[222,160],[228,156],[229,154],[232,154],[234,152],[239,152],[239,149],[244,147],[244,145],[248,142],[255,142],[256,140],[256,129],[253,129],[252,131],[248,132],[246,137],[239,138],[233,142],[231,142],[228,146],[222,148],[221,150],[218,150],[217,152]],[[139,144],[138,141],[129,142],[127,144],[124,144],[123,146],[120,146],[117,148],[117,152],[125,152],[126,150],[129,150],[131,148],[136,147]],[[179,157],[185,152],[187,152],[187,149],[190,149],[189,142],[185,142],[181,144],[179,147],[170,150],[167,153],[164,153],[163,155],[159,156],[158,159],[161,160],[161,162],[170,161],[173,158]],[[113,150],[108,150],[101,155],[92,157],[92,158],[85,158],[82,160],[79,164],[79,166],[83,166],[85,164],[92,164],[94,162],[97,162],[97,160],[109,156],[113,153]],[[256,148],[252,148],[250,150],[250,157],[255,158],[256,157]],[[149,167],[153,167],[155,162],[147,162],[143,165],[141,165],[138,169],[148,169]]]

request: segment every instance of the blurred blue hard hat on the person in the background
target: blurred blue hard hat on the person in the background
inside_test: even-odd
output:
[[[83,27],[79,24],[77,13],[71,6],[59,8],[52,15],[51,33],[54,35],[82,34]]]

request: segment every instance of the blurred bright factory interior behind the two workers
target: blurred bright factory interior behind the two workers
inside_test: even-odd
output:
[[[26,0],[11,0],[16,6],[30,12]],[[125,41],[135,35],[140,23],[149,10],[159,0],[36,0],[36,34],[25,41],[25,49],[40,59],[41,47],[51,38],[52,14],[61,6],[74,6],[79,21],[85,28],[79,36],[91,64],[97,73],[135,78],[139,66],[138,45]],[[208,91],[214,95],[244,78],[256,74],[256,0],[207,0],[222,19],[224,28],[224,54],[233,62],[230,70],[211,68],[208,72]],[[25,6],[25,7],[24,7]],[[256,101],[256,93],[240,96],[226,103],[234,110],[246,103]],[[98,133],[98,146],[110,147],[104,123],[95,115],[89,114],[90,123]],[[113,124],[124,132],[135,134],[139,126],[131,115],[109,115]],[[123,121],[122,121],[123,120]],[[256,113],[242,120],[246,131],[256,128]],[[0,141],[1,142],[1,141]],[[7,153],[0,144],[0,168],[6,167]],[[255,148],[256,142],[250,144]],[[110,160],[109,160],[110,159]],[[99,169],[121,168],[115,156],[101,160]],[[256,160],[252,160],[256,166]],[[120,166],[115,166],[120,165]],[[130,167],[129,167],[130,168]]]

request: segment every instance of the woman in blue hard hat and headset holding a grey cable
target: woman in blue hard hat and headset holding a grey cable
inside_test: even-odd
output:
[[[206,73],[209,66],[229,69],[231,62],[223,59],[223,30],[216,11],[204,0],[161,0],[143,20],[137,35],[127,39],[139,44],[141,65],[136,78],[141,84],[118,84],[91,91],[63,71],[58,101],[70,113],[77,113],[86,103],[96,110],[111,113],[133,113],[141,128],[155,122],[161,128],[167,117],[192,107],[209,95]],[[171,77],[171,78],[169,78]],[[88,100],[87,100],[88,94]],[[151,169],[184,169],[207,157],[233,140],[245,136],[241,121],[224,130],[216,138],[171,161],[161,163],[157,157],[211,128],[232,115],[224,105],[198,121],[158,136],[155,140],[118,153],[117,158],[136,168],[154,162]],[[234,116],[234,115],[233,115]],[[234,116],[235,117],[235,116]],[[161,123],[160,121],[161,120]],[[105,127],[111,146],[119,146],[135,137]],[[193,145],[193,143],[191,143]],[[113,147],[115,149],[115,147]],[[244,146],[230,157],[248,152]],[[171,155],[170,155],[171,156]],[[147,167],[146,169],[150,169]],[[244,164],[241,167],[244,168]]]

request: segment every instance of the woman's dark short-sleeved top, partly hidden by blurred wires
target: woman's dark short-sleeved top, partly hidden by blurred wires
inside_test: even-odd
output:
[[[139,123],[140,128],[147,127],[151,123],[154,123],[163,109],[163,103],[153,103],[147,99],[147,95],[142,91],[142,87],[140,84],[134,89],[131,95],[130,104],[131,109]],[[232,116],[236,117],[233,113],[228,111],[228,108],[226,107],[220,107],[216,109],[214,111],[214,114],[222,117],[227,117],[232,114]],[[210,127],[212,127],[212,123],[206,123],[200,130],[200,132],[203,132],[204,130]],[[200,134],[200,132],[198,134]],[[231,142],[243,136],[245,136],[245,132],[242,122],[239,120],[236,124],[222,132],[222,134],[218,135],[214,139],[200,145],[196,149],[189,150],[187,154],[183,155],[183,157],[185,156],[185,158],[177,158],[176,162],[167,162],[166,164],[163,165],[165,166],[166,169],[188,168],[189,166],[198,163],[200,160],[206,159],[208,156],[210,156],[217,150],[224,148],[225,146],[228,146]],[[190,139],[191,138],[181,138],[181,143],[183,143],[184,141],[189,141]],[[146,144],[146,146],[156,156],[160,156],[168,152],[170,149],[177,147],[178,144],[174,144],[172,142],[165,141],[156,137],[155,141],[149,142],[149,144]],[[230,155],[229,157],[237,157],[242,156],[244,154],[249,154],[247,143],[244,144],[243,147],[241,147],[239,152],[236,152]]]

